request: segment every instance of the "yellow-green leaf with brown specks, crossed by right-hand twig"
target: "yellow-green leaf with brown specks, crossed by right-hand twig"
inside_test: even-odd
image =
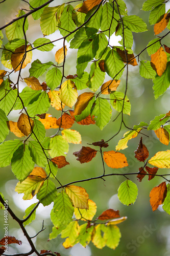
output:
[[[125,97],[125,94],[121,92],[114,92],[110,94],[110,104],[113,106],[113,108],[121,112],[123,109],[123,113],[130,115],[131,113],[131,103],[129,102],[128,97]],[[123,108],[124,105],[124,108]]]

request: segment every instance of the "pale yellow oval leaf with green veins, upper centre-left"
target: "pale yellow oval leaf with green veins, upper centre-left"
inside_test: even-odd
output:
[[[63,82],[60,90],[59,90],[59,98],[66,105],[72,108],[72,106],[76,103],[78,97],[77,88],[75,83],[71,80],[67,80]]]

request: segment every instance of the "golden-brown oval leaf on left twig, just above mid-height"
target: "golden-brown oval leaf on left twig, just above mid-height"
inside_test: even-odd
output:
[[[30,125],[31,123],[31,125]],[[34,127],[34,121],[26,114],[21,114],[17,122],[18,128],[24,135],[28,136]],[[31,128],[32,127],[32,128]]]

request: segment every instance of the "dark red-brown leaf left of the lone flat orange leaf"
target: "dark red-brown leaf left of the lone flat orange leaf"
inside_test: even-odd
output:
[[[81,150],[78,152],[73,153],[75,155],[78,161],[81,163],[88,163],[90,162],[93,157],[95,157],[97,151],[89,146],[82,146]]]

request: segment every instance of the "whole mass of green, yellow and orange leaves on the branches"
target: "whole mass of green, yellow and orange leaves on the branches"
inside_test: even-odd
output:
[[[42,250],[38,253],[32,243],[25,226],[31,223],[36,216],[36,208],[41,203],[43,206],[54,202],[51,212],[51,220],[54,224],[50,239],[61,234],[66,238],[63,246],[69,248],[77,243],[86,246],[90,241],[98,247],[105,245],[115,249],[119,243],[121,234],[118,223],[126,220],[120,218],[117,210],[108,209],[99,217],[94,218],[96,213],[95,203],[89,199],[87,191],[80,186],[72,185],[75,182],[63,185],[57,178],[58,168],[69,164],[66,161],[69,143],[81,143],[81,135],[78,131],[70,129],[77,122],[80,125],[93,124],[101,130],[109,123],[112,112],[118,112],[117,117],[122,117],[119,131],[125,124],[124,114],[130,115],[131,104],[127,96],[128,92],[128,65],[137,66],[136,57],[140,57],[142,51],[148,51],[150,60],[139,60],[139,73],[142,77],[152,79],[154,95],[157,99],[169,87],[169,61],[170,48],[162,45],[164,36],[153,39],[148,46],[138,55],[134,56],[132,51],[133,33],[147,31],[147,25],[136,15],[128,15],[126,4],[123,0],[86,0],[77,6],[71,2],[55,7],[48,7],[53,2],[50,0],[30,0],[30,11],[25,13],[19,10],[16,18],[6,24],[5,33],[8,38],[3,45],[3,33],[0,31],[0,47],[2,49],[1,62],[7,70],[0,71],[0,167],[11,164],[11,169],[18,183],[15,191],[23,193],[23,200],[30,200],[35,195],[39,203],[32,204],[26,209],[23,220],[15,218],[22,231],[25,233],[32,252],[38,255],[50,251]],[[75,2],[75,1],[74,1]],[[151,11],[149,22],[154,25],[155,35],[161,33],[165,28],[170,29],[169,13],[165,13],[165,2],[163,0],[147,0],[143,3],[143,11]],[[40,19],[40,28],[44,37],[37,38],[34,42],[28,42],[26,31],[28,30],[28,16]],[[62,37],[51,41],[45,36],[59,30]],[[110,37],[115,33],[122,36],[119,41],[122,46],[111,46]],[[51,51],[54,42],[63,40],[63,47],[55,54],[55,62],[42,63],[39,59],[32,61],[34,50],[40,52]],[[70,42],[71,49],[77,50],[77,74],[65,74],[67,63],[66,41]],[[163,48],[164,47],[164,48]],[[22,69],[31,63],[29,77],[22,78]],[[91,64],[90,72],[86,67]],[[10,71],[12,70],[12,71]],[[118,91],[120,78],[124,70],[127,71],[126,90]],[[18,72],[17,81],[10,79],[12,72]],[[110,80],[105,81],[105,75]],[[45,81],[42,76],[45,75]],[[107,77],[108,77],[107,76]],[[25,83],[25,88],[20,91],[20,79]],[[81,90],[87,89],[81,93]],[[79,91],[79,94],[78,94]],[[79,95],[79,96],[78,96]],[[52,106],[60,113],[60,117],[52,117],[48,109]],[[8,119],[12,110],[19,110],[18,121]],[[58,114],[56,114],[57,116]],[[101,179],[111,176],[105,174],[105,163],[110,168],[123,168],[128,166],[126,156],[119,150],[127,148],[130,139],[141,133],[142,129],[155,131],[160,142],[168,145],[170,126],[167,125],[170,111],[166,114],[156,116],[148,125],[140,122],[129,129],[124,137],[118,141],[115,151],[102,151],[108,146],[108,141],[93,142],[100,150],[89,146],[83,146],[74,155],[80,163],[90,162],[97,152],[101,154],[103,161],[103,174],[99,177],[89,178]],[[127,127],[127,126],[126,126]],[[57,129],[51,137],[45,137],[47,129]],[[4,141],[12,132],[17,138]],[[140,139],[135,157],[143,162],[139,168],[137,179],[141,182],[144,176],[149,180],[155,176],[161,176],[166,181],[166,175],[158,175],[158,168],[169,168],[170,152],[157,152],[154,157],[147,160],[149,151]],[[154,165],[151,168],[148,164]],[[114,175],[120,175],[114,174]],[[126,181],[118,188],[118,198],[125,205],[133,204],[137,198],[138,189],[134,182],[124,175]],[[53,179],[57,180],[56,187]],[[61,192],[57,190],[61,189]],[[166,182],[154,187],[150,193],[150,202],[153,211],[163,204],[163,209],[169,214],[169,189]],[[0,196],[3,204],[3,195]],[[3,205],[2,207],[3,208]],[[103,222],[99,222],[103,221]],[[85,224],[79,225],[79,221]],[[10,239],[8,239],[10,241]],[[3,242],[0,244],[3,245]],[[2,252],[4,248],[1,248]],[[29,253],[28,253],[29,255]],[[57,254],[59,255],[59,253]]]

